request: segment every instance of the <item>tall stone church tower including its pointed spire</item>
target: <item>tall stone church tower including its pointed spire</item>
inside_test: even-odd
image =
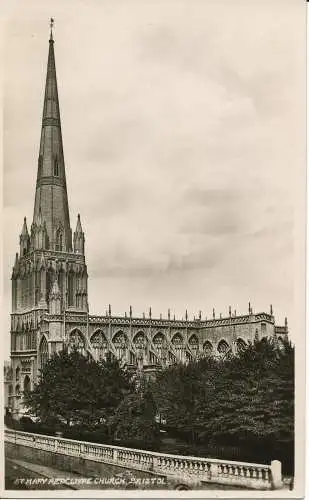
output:
[[[62,348],[66,311],[88,311],[79,215],[73,241],[51,31],[33,222],[29,234],[24,218],[12,272],[11,359],[17,406],[19,395],[36,381],[44,356]]]

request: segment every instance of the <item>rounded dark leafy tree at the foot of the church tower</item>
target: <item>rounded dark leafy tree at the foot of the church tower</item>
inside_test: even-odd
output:
[[[65,349],[46,363],[39,383],[25,394],[25,403],[44,424],[90,429],[106,421],[130,390],[130,376],[118,361],[99,363]]]

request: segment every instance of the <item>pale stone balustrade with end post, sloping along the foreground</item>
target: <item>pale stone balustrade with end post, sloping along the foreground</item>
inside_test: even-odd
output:
[[[212,458],[166,455],[54,436],[5,430],[5,441],[30,446],[51,453],[81,457],[129,469],[149,471],[189,482],[212,482],[254,489],[272,489],[282,486],[281,462],[271,465],[216,460]]]

